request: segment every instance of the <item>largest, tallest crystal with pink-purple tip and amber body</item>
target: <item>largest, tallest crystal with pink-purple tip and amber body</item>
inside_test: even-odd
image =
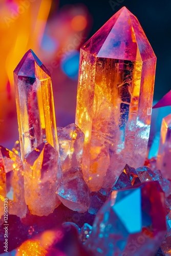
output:
[[[143,165],[155,70],[153,49],[125,7],[81,47],[75,123],[85,134],[83,175],[91,190],[111,187],[126,163]]]

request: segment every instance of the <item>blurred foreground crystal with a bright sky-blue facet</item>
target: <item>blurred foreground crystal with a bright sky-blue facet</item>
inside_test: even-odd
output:
[[[96,215],[87,247],[95,256],[155,255],[166,232],[164,198],[157,181],[113,191]]]

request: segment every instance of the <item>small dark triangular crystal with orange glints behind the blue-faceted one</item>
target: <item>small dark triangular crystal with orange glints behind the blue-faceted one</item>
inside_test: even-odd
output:
[[[121,174],[115,181],[112,187],[112,191],[119,190],[126,187],[132,187],[133,185],[138,183],[141,183],[141,181],[136,173],[136,170],[133,167],[126,164]]]

